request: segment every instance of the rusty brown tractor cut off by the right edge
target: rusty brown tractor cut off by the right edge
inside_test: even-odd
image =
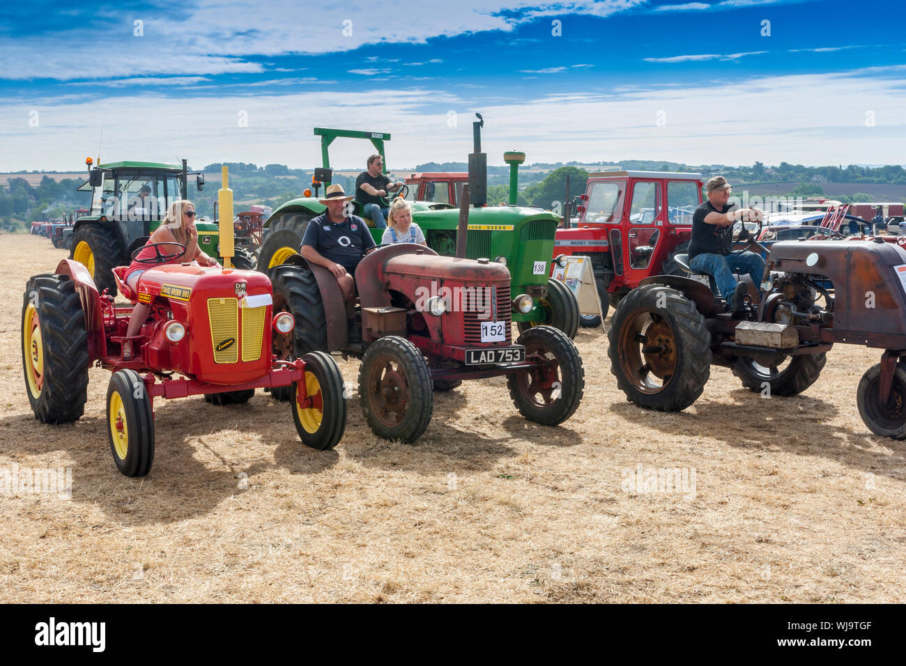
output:
[[[796,395],[817,381],[834,343],[863,344],[884,352],[859,382],[859,414],[873,433],[906,439],[906,249],[881,238],[785,241],[769,252],[748,242],[766,253],[764,282],[735,312],[707,285],[677,275],[644,279],[622,298],[608,355],[627,400],[684,410],[711,363],[732,368],[751,391]],[[688,269],[687,259],[677,256]]]

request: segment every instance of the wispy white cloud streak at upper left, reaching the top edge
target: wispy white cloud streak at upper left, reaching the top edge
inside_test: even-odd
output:
[[[200,0],[197,5],[181,7],[188,15],[159,12],[142,16],[136,12],[136,18],[144,21],[140,37],[134,36],[130,20],[120,24],[119,32],[105,27],[96,34],[91,25],[79,24],[53,36],[4,39],[0,41],[0,79],[68,81],[261,72],[262,65],[247,62],[246,58],[345,52],[371,43],[426,43],[432,37],[484,31],[508,33],[538,16],[608,16],[646,2],[569,0],[539,7],[536,0],[458,0],[431,5],[430,11],[419,13],[418,20],[396,21],[388,20],[396,11],[394,7],[409,12],[408,5],[348,0],[342,5],[315,7],[297,0],[279,0],[262,11],[256,0],[231,0],[225,11],[223,0]],[[509,11],[504,15],[501,10]],[[91,34],[92,39],[86,39],[86,34]],[[99,40],[104,48],[98,47]],[[116,57],[111,57],[111,53],[116,53]]]

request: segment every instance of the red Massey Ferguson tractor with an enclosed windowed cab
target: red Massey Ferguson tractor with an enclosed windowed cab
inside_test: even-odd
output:
[[[702,201],[698,173],[600,171],[577,198],[578,221],[557,229],[554,257],[589,256],[602,314],[651,275],[685,275],[674,256],[687,252],[692,213]],[[585,326],[601,323],[583,315]]]

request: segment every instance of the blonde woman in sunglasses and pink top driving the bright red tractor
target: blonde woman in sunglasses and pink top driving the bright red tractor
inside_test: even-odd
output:
[[[185,251],[182,251],[182,247],[177,245],[164,245],[158,246],[157,248],[149,247],[153,243],[181,243],[186,246],[186,249]],[[204,266],[220,265],[217,262],[217,259],[207,256],[207,254],[202,252],[201,248],[198,247],[198,229],[195,228],[195,206],[192,202],[184,199],[174,201],[170,204],[169,209],[167,210],[167,217],[164,217],[163,221],[160,223],[160,227],[151,234],[148,242],[141,249],[140,253],[135,256],[135,259],[132,260],[129,268],[126,269],[126,273],[123,277],[125,278],[126,284],[129,285],[130,289],[136,294],[139,293],[141,274],[149,270],[149,268],[154,267],[154,265],[148,263],[140,263],[139,260],[154,258],[158,254],[156,249],[159,249],[160,254],[162,255],[181,253],[169,261],[162,262],[164,264],[179,264],[185,261],[197,261],[199,265]],[[141,325],[148,319],[149,310],[149,304],[135,304],[129,319],[129,328],[126,331],[127,337],[139,333]],[[131,358],[132,344],[130,341],[127,341],[122,345],[122,359],[123,361],[130,361]]]

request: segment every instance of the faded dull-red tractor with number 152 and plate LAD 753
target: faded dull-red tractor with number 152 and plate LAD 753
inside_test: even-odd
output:
[[[573,341],[552,326],[511,338],[511,311],[532,298],[510,294],[506,265],[464,258],[468,188],[463,189],[456,257],[412,243],[380,246],[355,271],[359,304],[348,317],[333,275],[287,257],[271,271],[275,310],[295,318],[275,343],[287,356],[342,352],[361,358],[359,398],[371,430],[413,442],[428,428],[432,388],[506,375],[526,419],[554,426],[582,399],[584,371]]]

